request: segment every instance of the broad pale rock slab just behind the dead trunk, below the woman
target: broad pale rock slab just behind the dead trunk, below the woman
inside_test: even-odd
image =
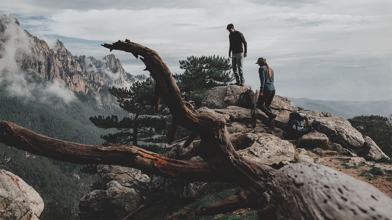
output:
[[[252,146],[237,151],[241,156],[252,161],[273,164],[294,159],[294,146],[289,141],[267,133],[248,133],[246,138],[254,140]]]

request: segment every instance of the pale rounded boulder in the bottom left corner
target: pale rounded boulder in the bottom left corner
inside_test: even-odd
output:
[[[0,170],[0,219],[38,220],[44,210],[40,195],[17,175]]]

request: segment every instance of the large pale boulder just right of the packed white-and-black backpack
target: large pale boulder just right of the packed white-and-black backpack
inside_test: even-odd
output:
[[[316,117],[312,125],[317,131],[326,134],[329,140],[339,143],[345,148],[358,151],[365,143],[362,134],[344,118]]]

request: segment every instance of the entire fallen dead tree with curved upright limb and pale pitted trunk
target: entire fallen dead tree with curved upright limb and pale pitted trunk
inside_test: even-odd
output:
[[[185,144],[200,136],[200,146],[192,151],[192,156],[199,155],[204,161],[169,159],[132,145],[82,145],[56,140],[5,121],[0,122],[0,141],[71,163],[129,166],[164,177],[235,182],[240,186],[236,195],[203,207],[199,215],[250,207],[258,210],[259,218],[265,219],[391,218],[389,197],[344,173],[313,163],[292,164],[275,170],[239,156],[231,145],[225,120],[211,114],[198,114],[191,104],[182,100],[171,72],[154,50],[129,40],[103,46],[140,57],[156,80],[154,94],[164,98],[173,123],[193,132]],[[159,100],[157,97],[154,100]]]

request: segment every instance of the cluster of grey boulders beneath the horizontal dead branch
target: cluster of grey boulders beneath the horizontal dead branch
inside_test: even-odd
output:
[[[117,165],[98,165],[97,172],[98,180],[80,200],[80,218],[122,219],[142,204],[143,195],[133,186],[144,185],[146,174]]]

